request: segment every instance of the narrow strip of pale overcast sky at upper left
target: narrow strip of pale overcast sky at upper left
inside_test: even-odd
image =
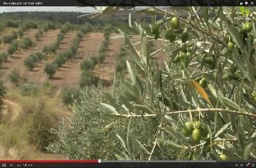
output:
[[[53,1],[53,0],[49,0]],[[68,1],[68,0],[63,0]],[[93,12],[97,11],[92,7],[76,7],[76,6],[4,6],[0,7],[0,13],[12,11],[81,11]]]

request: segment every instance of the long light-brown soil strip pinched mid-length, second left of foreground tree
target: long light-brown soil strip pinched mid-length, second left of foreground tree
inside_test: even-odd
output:
[[[100,32],[92,32],[84,35],[79,44],[76,59],[68,60],[65,64],[63,64],[63,66],[60,67],[54,75],[54,80],[51,80],[51,83],[59,88],[66,85],[78,85],[81,74],[81,61],[84,59],[90,59],[98,52],[102,39],[103,34]]]

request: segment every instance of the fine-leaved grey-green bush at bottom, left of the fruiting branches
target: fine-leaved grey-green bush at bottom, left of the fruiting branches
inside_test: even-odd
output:
[[[52,133],[57,133],[58,140],[50,144],[47,150],[67,153],[70,160],[115,160],[113,151],[122,150],[115,138],[115,130],[127,130],[124,129],[125,122],[109,117],[104,109],[99,108],[102,101],[106,101],[102,87],[84,88],[81,99],[74,102],[72,112],[76,113],[76,117],[72,117],[72,124],[68,129],[65,123],[61,123],[58,129],[51,129]]]

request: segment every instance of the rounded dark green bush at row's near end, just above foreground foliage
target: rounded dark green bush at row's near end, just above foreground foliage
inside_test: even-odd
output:
[[[94,76],[92,74],[92,71],[86,71],[86,70],[82,71],[81,77],[79,80],[80,87],[83,88],[86,86],[97,85],[98,82],[99,82],[99,78]]]

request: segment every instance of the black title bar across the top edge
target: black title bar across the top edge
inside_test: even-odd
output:
[[[0,0],[0,6],[241,6],[246,0]],[[256,0],[246,1],[256,6]]]

